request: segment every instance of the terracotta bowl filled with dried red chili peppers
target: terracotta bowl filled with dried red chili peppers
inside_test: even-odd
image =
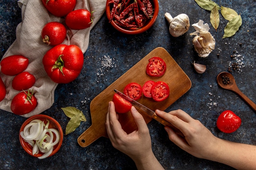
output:
[[[107,0],[106,15],[110,24],[126,34],[148,30],[157,19],[157,0]]]

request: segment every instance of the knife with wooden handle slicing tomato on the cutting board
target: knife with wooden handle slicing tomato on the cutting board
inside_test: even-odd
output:
[[[184,137],[183,133],[176,128],[175,126],[173,126],[170,122],[166,121],[165,119],[163,119],[162,117],[158,117],[155,112],[153,110],[150,110],[149,108],[147,108],[146,106],[140,104],[139,102],[133,100],[132,98],[130,98],[129,96],[125,95],[124,93],[121,93],[118,90],[114,90],[115,93],[117,93],[118,95],[120,95],[121,97],[123,97],[124,99],[128,100],[129,102],[131,102],[131,104],[137,108],[139,108],[140,110],[144,111],[145,113],[147,113],[150,117],[152,117],[153,119],[155,119],[156,121],[158,121],[159,123],[161,123],[164,126],[170,126],[171,128],[173,128],[173,130],[175,130],[175,132],[179,135],[181,135],[182,137]]]

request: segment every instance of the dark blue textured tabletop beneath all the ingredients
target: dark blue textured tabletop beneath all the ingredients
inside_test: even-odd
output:
[[[20,146],[18,132],[26,118],[0,110],[0,169],[85,169],[85,170],[132,170],[133,161],[115,150],[109,139],[99,138],[86,148],[77,143],[77,138],[91,126],[90,101],[112,82],[128,71],[141,58],[158,46],[164,47],[189,76],[191,89],[166,111],[182,109],[193,118],[199,119],[214,135],[222,139],[256,145],[256,114],[235,93],[218,87],[216,76],[227,71],[233,51],[242,55],[243,68],[233,72],[240,90],[256,102],[256,2],[255,0],[215,0],[224,7],[241,13],[243,24],[231,38],[222,39],[227,20],[220,16],[217,33],[210,24],[210,13],[198,6],[194,0],[159,0],[157,21],[145,33],[125,35],[119,33],[108,23],[106,15],[90,33],[90,44],[85,52],[85,64],[79,77],[69,84],[59,84],[55,91],[55,102],[42,114],[54,117],[63,130],[69,119],[61,107],[74,106],[82,110],[88,119],[69,135],[65,135],[61,149],[52,157],[39,160],[29,156]],[[191,25],[204,20],[210,25],[210,32],[216,39],[216,49],[207,58],[199,58],[192,45],[194,32],[189,31],[178,38],[168,32],[164,13],[172,16],[180,13],[189,15]],[[16,0],[0,0],[0,57],[4,55],[15,40],[15,29],[21,22],[21,11]],[[240,45],[241,43],[241,45]],[[217,57],[217,54],[220,54]],[[106,58],[112,59],[112,66],[103,66]],[[198,74],[192,62],[207,66],[207,71]],[[216,104],[214,104],[216,103]],[[213,105],[211,105],[213,104]],[[100,106],[99,106],[100,107]],[[216,127],[218,115],[224,110],[233,110],[242,119],[240,128],[225,134]],[[233,170],[229,166],[198,159],[184,152],[171,141],[161,124],[151,121],[148,124],[152,137],[153,151],[166,170]]]

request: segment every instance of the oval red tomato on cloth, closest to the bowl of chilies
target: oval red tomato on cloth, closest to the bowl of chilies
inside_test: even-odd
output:
[[[92,25],[92,16],[86,9],[77,9],[67,14],[65,22],[70,29],[86,29]]]

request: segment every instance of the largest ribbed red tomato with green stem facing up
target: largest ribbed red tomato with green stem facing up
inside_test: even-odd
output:
[[[59,44],[45,53],[43,65],[52,81],[69,83],[83,68],[83,52],[76,45]]]

